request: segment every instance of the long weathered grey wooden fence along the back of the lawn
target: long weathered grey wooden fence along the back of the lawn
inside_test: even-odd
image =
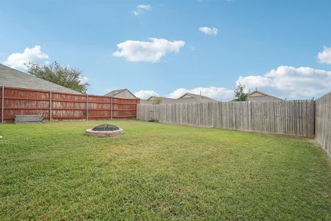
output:
[[[303,137],[314,136],[314,101],[139,104],[137,119]]]

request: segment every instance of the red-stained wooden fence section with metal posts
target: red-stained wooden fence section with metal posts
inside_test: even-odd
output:
[[[43,115],[46,120],[135,119],[139,104],[139,99],[25,88],[2,87],[0,94],[1,122],[13,122],[15,115]]]

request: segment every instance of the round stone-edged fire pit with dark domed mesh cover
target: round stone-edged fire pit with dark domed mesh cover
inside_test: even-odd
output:
[[[123,129],[111,124],[101,124],[86,130],[87,135],[95,137],[116,137],[123,133]]]

